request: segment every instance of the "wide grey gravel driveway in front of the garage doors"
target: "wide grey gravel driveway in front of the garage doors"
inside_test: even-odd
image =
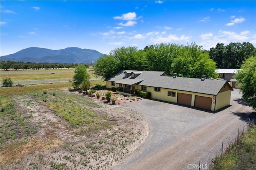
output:
[[[129,102],[127,107],[146,117],[150,132],[145,143],[115,170],[177,170],[207,169],[210,161],[220,154],[247,126],[243,113],[253,112],[243,102],[238,89],[231,93],[230,107],[209,113],[190,107],[143,99]]]

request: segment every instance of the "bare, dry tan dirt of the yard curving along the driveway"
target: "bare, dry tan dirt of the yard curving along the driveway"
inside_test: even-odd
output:
[[[20,133],[16,140],[1,146],[1,168],[5,170],[106,169],[137,150],[148,136],[146,119],[124,109],[125,103],[108,105],[94,99],[100,107],[88,109],[107,113],[108,118],[75,128],[32,95],[12,99],[35,133]]]

